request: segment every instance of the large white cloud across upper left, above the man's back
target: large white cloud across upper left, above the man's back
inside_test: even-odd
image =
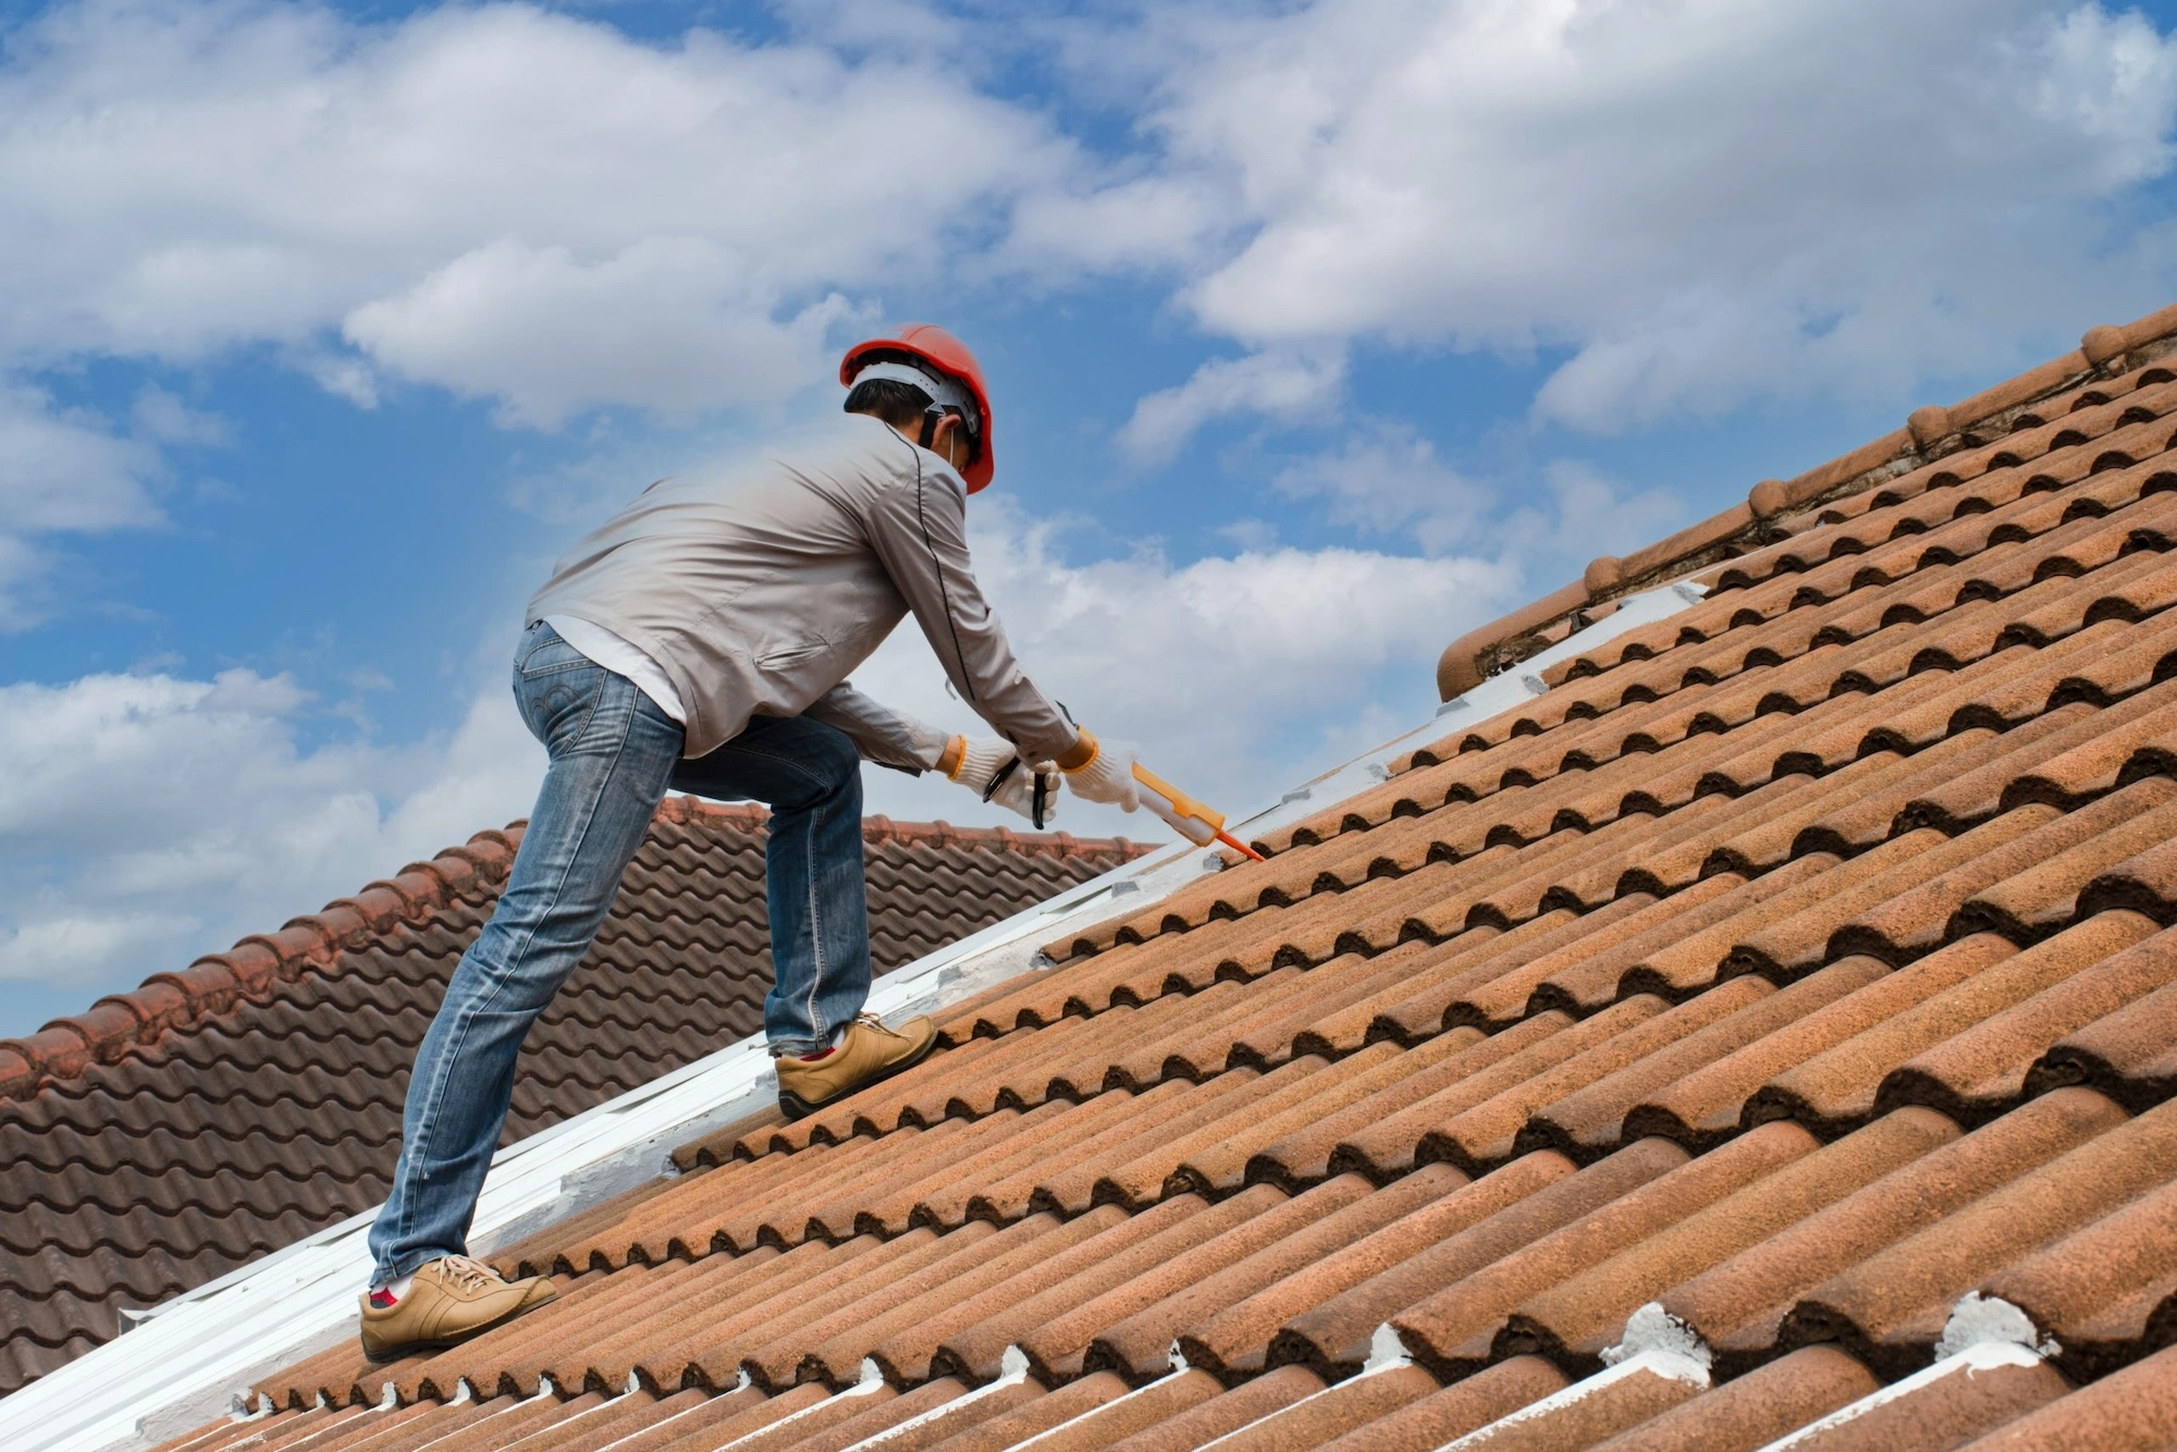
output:
[[[1071,165],[951,67],[520,4],[83,0],[0,70],[0,337],[198,359],[279,342],[507,416],[764,403],[821,377],[834,298],[930,276]],[[4,359],[0,359],[4,361]]]

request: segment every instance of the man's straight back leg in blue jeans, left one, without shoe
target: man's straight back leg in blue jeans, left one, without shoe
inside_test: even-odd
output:
[[[522,638],[514,692],[551,764],[492,921],[416,1051],[372,1284],[466,1254],[522,1036],[590,949],[679,760],[679,725],[551,627]]]

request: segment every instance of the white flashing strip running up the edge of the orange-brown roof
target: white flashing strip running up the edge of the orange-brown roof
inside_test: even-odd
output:
[[[1237,819],[1234,836],[1239,829],[1260,834],[1295,823],[1389,779],[1389,762],[1406,751],[1541,694],[1537,673],[1550,664],[1661,620],[1700,596],[1700,586],[1689,581],[1626,596],[1609,618],[1446,701],[1415,729]],[[895,1017],[956,1004],[1043,967],[1041,945],[1062,930],[1145,908],[1219,866],[1217,853],[1191,842],[1163,847],[886,973],[871,988],[869,1012]],[[492,1156],[477,1202],[472,1252],[488,1256],[610,1195],[673,1173],[668,1154],[677,1145],[762,1110],[775,1093],[762,1038],[745,1038],[507,1145]],[[370,1278],[366,1236],[374,1215],[355,1215],[176,1295],[144,1315],[126,1337],[0,1398],[0,1448],[148,1448],[242,1408],[255,1378],[353,1334],[355,1297]]]

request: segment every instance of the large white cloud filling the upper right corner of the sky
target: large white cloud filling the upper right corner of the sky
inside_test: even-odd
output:
[[[1537,414],[1583,429],[1896,392],[2168,290],[2107,226],[2177,118],[2129,11],[1317,0],[1158,39],[1160,174],[1243,237],[1184,287],[1204,329],[1570,350]]]

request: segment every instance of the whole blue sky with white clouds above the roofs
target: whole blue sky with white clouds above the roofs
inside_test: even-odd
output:
[[[908,320],[993,377],[1030,670],[1274,799],[1591,555],[2177,300],[2173,24],[0,4],[0,1034],[522,814],[551,557]],[[973,727],[912,627],[860,684]]]

